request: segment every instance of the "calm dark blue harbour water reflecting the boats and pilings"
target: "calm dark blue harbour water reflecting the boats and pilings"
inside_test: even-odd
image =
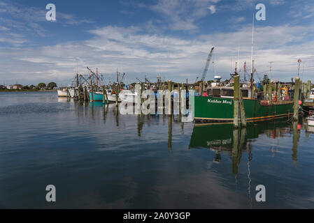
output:
[[[314,134],[0,93],[0,208],[314,208]],[[57,202],[45,201],[46,185]],[[265,185],[266,202],[255,201]]]

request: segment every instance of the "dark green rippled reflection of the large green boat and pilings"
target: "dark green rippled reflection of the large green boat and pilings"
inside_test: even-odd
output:
[[[234,129],[232,124],[195,125],[190,140],[190,148],[209,148],[215,151],[213,162],[221,162],[221,153],[232,157],[232,172],[238,174],[238,164],[243,151],[252,160],[252,141],[259,135],[266,134],[271,139],[285,137],[292,132],[292,160],[297,162],[298,143],[300,140],[300,124],[287,123],[286,120],[251,123],[247,128]],[[270,149],[274,154],[273,147]]]

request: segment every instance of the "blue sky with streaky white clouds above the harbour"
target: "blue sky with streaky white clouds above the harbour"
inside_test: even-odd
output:
[[[55,22],[46,20],[48,3]],[[159,70],[164,81],[193,83],[211,47],[206,80],[229,79],[236,62],[243,77],[257,3],[266,20],[255,20],[255,79],[290,81],[301,59],[301,79],[314,82],[313,0],[0,0],[0,84],[67,86],[87,66],[106,83],[116,70],[127,84],[155,82]]]

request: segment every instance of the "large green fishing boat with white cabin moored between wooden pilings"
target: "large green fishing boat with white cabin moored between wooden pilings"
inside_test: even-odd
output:
[[[232,122],[234,120],[233,88],[213,87],[206,95],[194,99],[194,118],[197,122]],[[252,89],[241,88],[247,121],[262,121],[293,116],[294,102],[291,100],[257,100]],[[301,110],[300,110],[301,112]]]

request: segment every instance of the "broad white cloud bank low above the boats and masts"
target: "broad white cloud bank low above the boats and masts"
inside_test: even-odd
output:
[[[306,41],[309,30],[313,27],[286,25],[257,28],[255,66],[259,76],[269,70],[269,61],[276,61],[273,77],[282,80],[294,77],[299,57],[304,59],[306,67],[314,66],[314,42]],[[145,34],[134,26],[105,26],[90,33],[94,36],[86,41],[39,48],[2,48],[0,59],[7,63],[1,63],[0,75],[6,75],[6,82],[27,79],[28,82],[56,80],[59,84],[66,84],[76,70],[78,58],[79,72],[87,72],[86,66],[98,67],[99,72],[106,74],[106,82],[113,80],[116,68],[127,73],[127,82],[134,82],[136,77],[145,75],[155,79],[159,67],[165,79],[183,82],[188,78],[192,82],[199,76],[213,45],[215,68],[222,77],[229,77],[231,57],[236,61],[238,45],[241,66],[244,61],[250,66],[250,26],[231,33],[197,36],[192,40]],[[304,75],[309,75],[309,71]],[[212,77],[213,67],[210,66],[208,79]]]

